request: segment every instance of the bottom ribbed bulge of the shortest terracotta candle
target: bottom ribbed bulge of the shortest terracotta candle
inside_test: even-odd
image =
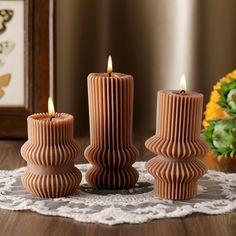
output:
[[[35,174],[26,171],[21,181],[28,192],[35,197],[66,197],[75,192],[81,181],[81,172],[73,167],[64,174]]]

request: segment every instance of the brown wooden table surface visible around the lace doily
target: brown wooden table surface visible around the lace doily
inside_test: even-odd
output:
[[[140,150],[140,160],[148,160],[154,155],[144,147],[144,140],[150,134],[135,138],[134,143]],[[88,138],[78,140],[81,147],[81,155],[77,162],[85,163],[83,150],[88,145]],[[0,140],[0,169],[11,170],[26,163],[21,158],[19,150],[24,143],[22,140]],[[219,165],[214,160],[205,160],[215,169]],[[213,164],[212,164],[213,163]],[[235,164],[236,167],[236,164]],[[236,170],[236,169],[235,169]],[[224,215],[193,214],[183,218],[154,220],[139,225],[107,226],[102,224],[84,224],[63,217],[43,216],[30,211],[0,210],[0,235],[4,236],[28,236],[28,235],[236,235],[236,211]]]

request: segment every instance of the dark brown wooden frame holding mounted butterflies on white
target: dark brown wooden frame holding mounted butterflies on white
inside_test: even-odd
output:
[[[0,137],[26,137],[54,93],[54,0],[0,0]]]

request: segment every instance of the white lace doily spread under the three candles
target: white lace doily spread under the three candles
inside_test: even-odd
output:
[[[199,181],[198,195],[187,201],[161,200],[154,196],[153,178],[145,170],[145,162],[137,162],[143,182],[138,189],[94,193],[82,180],[82,190],[68,198],[33,198],[21,185],[25,167],[0,171],[0,208],[31,210],[44,215],[64,216],[86,223],[115,225],[140,224],[154,219],[182,217],[194,212],[222,214],[236,209],[236,174],[208,171]],[[89,164],[77,165],[83,177]],[[150,184],[151,183],[151,184]],[[93,193],[92,193],[93,192]]]

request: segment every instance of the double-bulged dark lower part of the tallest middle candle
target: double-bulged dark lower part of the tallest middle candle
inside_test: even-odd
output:
[[[98,189],[130,189],[138,181],[138,171],[132,167],[138,150],[130,148],[111,150],[88,146],[84,152],[93,165],[86,172],[87,182]]]

